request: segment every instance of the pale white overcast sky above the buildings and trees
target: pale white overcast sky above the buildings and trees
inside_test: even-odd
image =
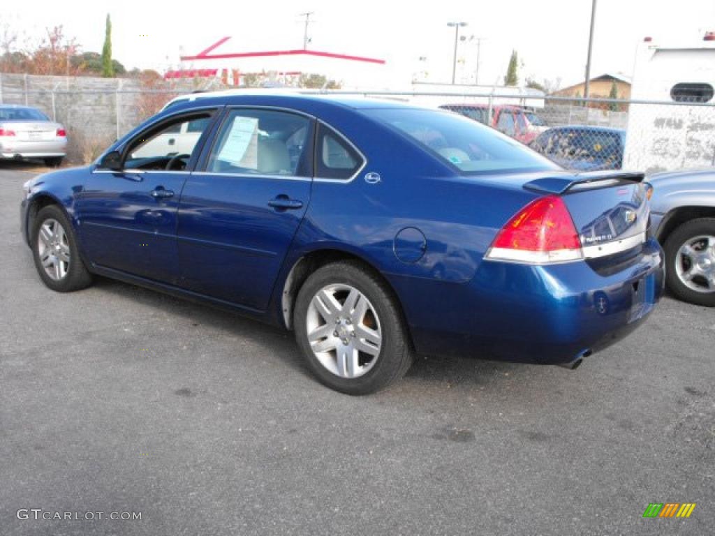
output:
[[[461,34],[457,81],[474,81],[477,37],[479,82],[501,83],[512,50],[526,78],[561,87],[583,79],[591,0],[377,1],[264,0],[191,2],[30,0],[9,2],[0,14],[25,39],[64,26],[84,51],[101,51],[104,17],[112,16],[114,58],[132,68],[164,71],[181,54],[196,54],[223,36],[229,52],[302,47],[300,13],[314,11],[309,48],[385,59],[390,79],[407,84],[451,79],[454,29]],[[636,44],[696,44],[715,31],[715,0],[598,0],[591,74],[631,74]],[[420,57],[424,58],[420,61]]]

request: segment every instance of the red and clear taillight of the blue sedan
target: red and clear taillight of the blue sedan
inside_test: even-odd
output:
[[[550,195],[526,205],[501,229],[487,258],[531,264],[582,259],[581,241],[563,199]]]

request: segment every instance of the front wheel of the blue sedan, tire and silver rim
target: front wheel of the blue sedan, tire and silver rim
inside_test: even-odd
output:
[[[92,275],[79,256],[69,219],[56,205],[41,209],[31,234],[32,254],[42,282],[56,292],[89,287]]]

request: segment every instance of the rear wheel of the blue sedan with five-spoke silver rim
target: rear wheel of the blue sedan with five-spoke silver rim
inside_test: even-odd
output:
[[[379,391],[413,361],[390,289],[357,262],[327,264],[311,274],[298,292],[293,325],[311,372],[336,391]]]

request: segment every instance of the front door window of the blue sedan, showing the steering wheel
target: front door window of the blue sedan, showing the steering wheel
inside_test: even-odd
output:
[[[125,169],[184,169],[194,154],[204,130],[211,123],[211,112],[183,116],[139,134],[129,144]],[[194,129],[184,126],[197,125]]]

